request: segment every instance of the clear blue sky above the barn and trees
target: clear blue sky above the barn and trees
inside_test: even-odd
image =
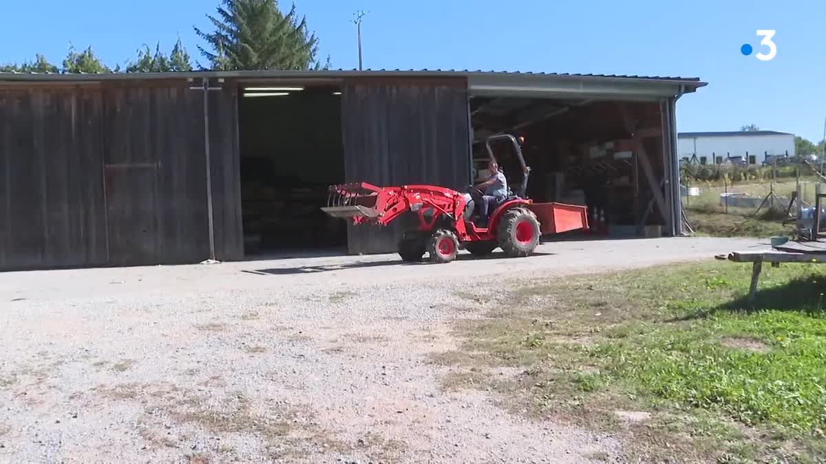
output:
[[[0,62],[43,53],[63,59],[69,42],[93,45],[107,64],[125,63],[144,43],[169,50],[192,26],[207,26],[219,0],[0,0]],[[677,103],[681,131],[756,124],[809,140],[826,118],[826,2],[796,0],[295,0],[335,68],[495,69],[700,77],[709,85]],[[280,2],[288,9],[290,2]],[[743,56],[774,29],[776,58]],[[200,58],[200,57],[198,57]]]

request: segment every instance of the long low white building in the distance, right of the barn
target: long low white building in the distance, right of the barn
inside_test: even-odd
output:
[[[677,154],[686,161],[696,155],[701,164],[743,159],[749,164],[766,161],[771,155],[795,155],[795,135],[774,130],[734,132],[681,132]]]

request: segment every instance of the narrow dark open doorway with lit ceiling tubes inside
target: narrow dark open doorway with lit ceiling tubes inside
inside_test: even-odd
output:
[[[344,181],[339,88],[245,85],[239,132],[244,254],[344,253],[344,221],[320,210]]]

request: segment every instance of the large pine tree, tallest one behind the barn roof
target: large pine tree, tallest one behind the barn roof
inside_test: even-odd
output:
[[[276,0],[222,0],[218,17],[207,16],[215,31],[195,32],[211,50],[198,50],[211,69],[321,69],[318,38],[299,21],[295,5],[285,16]],[[329,68],[327,59],[324,68]]]

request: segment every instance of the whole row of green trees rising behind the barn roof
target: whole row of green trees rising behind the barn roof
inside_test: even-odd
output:
[[[329,69],[330,57],[321,64],[317,59],[318,37],[308,30],[306,17],[299,18],[293,5],[287,14],[277,0],[221,0],[216,15],[207,15],[212,31],[193,27],[206,42],[197,45],[205,64],[192,63],[180,39],[169,54],[157,43],[154,50],[143,45],[134,59],[123,67],[104,64],[89,45],[78,51],[69,45],[66,57],[58,65],[43,54],[23,63],[0,64],[0,72],[20,73],[169,73],[244,69]]]

